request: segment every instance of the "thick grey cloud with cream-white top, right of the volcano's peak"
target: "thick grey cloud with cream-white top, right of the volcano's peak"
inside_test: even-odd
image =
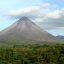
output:
[[[42,28],[52,30],[64,27],[64,8],[49,11],[44,17],[35,20]]]

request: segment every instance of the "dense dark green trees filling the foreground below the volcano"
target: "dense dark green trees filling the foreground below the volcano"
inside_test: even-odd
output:
[[[0,48],[0,64],[64,64],[64,44]]]

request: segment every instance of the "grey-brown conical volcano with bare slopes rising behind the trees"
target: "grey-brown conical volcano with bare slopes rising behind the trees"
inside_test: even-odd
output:
[[[0,41],[47,41],[56,42],[56,37],[42,30],[27,17],[22,17],[10,27],[1,31]]]

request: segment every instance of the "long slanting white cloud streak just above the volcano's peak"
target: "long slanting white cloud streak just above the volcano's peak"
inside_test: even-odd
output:
[[[48,6],[50,4],[49,3],[45,3],[45,4],[41,4],[39,6],[29,6],[29,7],[25,7],[25,8],[20,8],[17,10],[12,10],[8,13],[8,16],[11,17],[21,17],[21,16],[34,16],[34,15],[38,15],[38,13],[42,10],[42,9],[47,9]]]

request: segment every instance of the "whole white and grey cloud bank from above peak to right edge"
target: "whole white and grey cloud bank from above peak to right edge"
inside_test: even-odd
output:
[[[64,27],[64,8],[56,9],[54,6],[56,4],[44,3],[39,6],[20,8],[9,12],[8,15],[15,18],[22,16],[30,17],[46,30]]]

